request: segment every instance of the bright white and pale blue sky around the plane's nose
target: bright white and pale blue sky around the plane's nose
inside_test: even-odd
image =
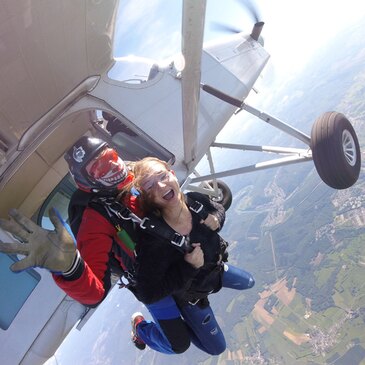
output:
[[[214,23],[249,34],[254,20],[246,10],[247,1],[225,0],[222,11],[223,0],[207,0],[204,41],[227,36],[216,30]],[[182,0],[123,0],[121,4],[115,33],[116,58],[138,55],[162,63],[180,53]],[[271,57],[256,82],[259,93],[251,92],[246,102],[269,114],[272,91],[285,90],[317,50],[365,17],[365,7],[358,0],[256,0],[251,4],[259,20],[265,22],[262,36]],[[240,118],[233,117],[223,134],[229,135],[234,120],[240,123]],[[249,128],[250,122],[245,126]]]

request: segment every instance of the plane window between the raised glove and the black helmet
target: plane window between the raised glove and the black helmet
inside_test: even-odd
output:
[[[53,230],[48,211],[51,207],[58,210],[61,217],[68,223],[68,203],[71,199],[72,193],[76,190],[75,183],[70,174],[67,174],[55,189],[49,194],[39,212],[36,213],[36,222],[43,228]]]

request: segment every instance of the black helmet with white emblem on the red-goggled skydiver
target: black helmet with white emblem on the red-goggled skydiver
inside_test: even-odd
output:
[[[64,158],[80,189],[98,191],[106,188],[90,178],[86,165],[107,147],[108,144],[99,138],[83,136],[65,153]]]

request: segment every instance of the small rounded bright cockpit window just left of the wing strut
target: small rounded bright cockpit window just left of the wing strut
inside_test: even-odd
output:
[[[127,56],[117,58],[108,72],[112,80],[128,84],[142,84],[158,74],[158,65],[148,58]]]

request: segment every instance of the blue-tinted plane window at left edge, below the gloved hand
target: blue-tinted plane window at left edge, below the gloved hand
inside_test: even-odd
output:
[[[0,328],[7,330],[15,316],[36,287],[41,276],[33,269],[13,273],[9,266],[17,258],[15,255],[0,253]]]

